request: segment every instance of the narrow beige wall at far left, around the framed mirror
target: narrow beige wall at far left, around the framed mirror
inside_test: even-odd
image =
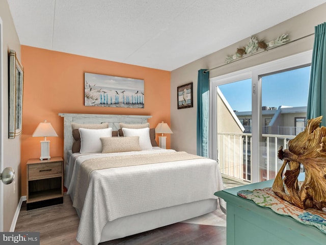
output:
[[[4,231],[9,231],[20,199],[20,137],[8,139],[8,52],[15,50],[20,60],[20,42],[13,23],[7,0],[0,0],[0,17],[3,21],[3,137],[4,137],[4,167],[15,170],[15,183],[4,185]],[[1,169],[3,170],[3,169]],[[15,188],[15,193],[14,192]]]

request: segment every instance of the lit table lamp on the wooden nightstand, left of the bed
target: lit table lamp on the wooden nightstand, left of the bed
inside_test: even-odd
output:
[[[44,140],[41,140],[41,156],[40,160],[50,159],[50,141],[46,140],[46,137],[58,137],[58,134],[53,129],[50,122],[40,122],[36,130],[33,133],[33,137],[44,137]]]

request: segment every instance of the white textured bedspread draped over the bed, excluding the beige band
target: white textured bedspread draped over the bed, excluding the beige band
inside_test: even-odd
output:
[[[152,150],[128,154],[152,154]],[[125,154],[125,153],[124,153]],[[99,155],[75,157],[68,194],[73,197],[74,180],[79,165]],[[69,167],[72,167],[69,163]],[[72,164],[73,165],[73,164]],[[223,189],[220,169],[211,159],[194,159],[95,170],[77,233],[82,244],[98,244],[104,225],[116,218],[176,206],[199,200],[216,199],[214,192]],[[223,204],[222,204],[223,206]]]

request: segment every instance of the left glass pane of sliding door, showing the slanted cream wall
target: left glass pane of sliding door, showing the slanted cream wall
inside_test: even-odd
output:
[[[221,172],[251,180],[251,79],[218,86],[216,98],[216,144]]]

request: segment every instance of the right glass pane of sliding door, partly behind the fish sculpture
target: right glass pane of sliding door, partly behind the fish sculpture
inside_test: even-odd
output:
[[[260,180],[274,179],[282,161],[280,146],[304,130],[306,125],[310,66],[261,77],[262,108],[260,136]]]

